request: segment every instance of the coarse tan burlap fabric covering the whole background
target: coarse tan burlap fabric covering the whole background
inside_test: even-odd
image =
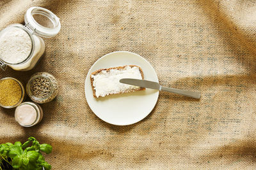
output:
[[[254,169],[256,166],[256,1],[1,1],[0,28],[22,23],[30,6],[52,10],[61,32],[44,38],[32,71],[1,71],[26,83],[47,71],[60,93],[43,104],[42,123],[22,128],[1,108],[0,142],[35,136],[51,143],[52,169]],[[198,90],[202,99],[161,92],[143,121],[109,125],[84,97],[84,80],[102,55],[145,57],[162,85]]]

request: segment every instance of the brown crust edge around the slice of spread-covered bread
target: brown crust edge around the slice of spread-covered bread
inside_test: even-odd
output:
[[[92,91],[93,91],[93,97],[95,98],[99,98],[99,97],[102,97],[102,96],[99,96],[97,97],[96,96],[96,90],[94,89],[94,86],[93,86],[93,78],[92,78],[92,75],[97,75],[99,74],[101,71],[104,71],[106,70],[107,72],[109,72],[111,69],[118,69],[118,70],[121,70],[121,69],[124,69],[125,67],[127,66],[130,66],[130,67],[138,67],[140,69],[140,74],[141,74],[141,78],[142,80],[144,79],[144,74],[143,74],[143,71],[141,69],[140,66],[136,66],[136,65],[125,65],[125,66],[118,66],[118,67],[109,67],[108,69],[98,69],[97,71],[94,71],[91,75],[90,75],[90,80],[91,80],[91,85],[92,85]],[[128,92],[136,92],[136,91],[140,91],[140,90],[145,90],[145,88],[143,87],[140,87],[140,89],[136,89],[136,90],[126,90],[124,92],[119,92],[119,93],[115,93],[115,94],[124,94],[124,93],[128,93]],[[109,96],[109,95],[113,95],[113,94],[107,94],[106,96]]]

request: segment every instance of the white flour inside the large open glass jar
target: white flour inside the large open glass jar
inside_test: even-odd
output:
[[[0,58],[10,64],[17,64],[28,57],[31,46],[31,39],[27,32],[11,27],[0,37]]]

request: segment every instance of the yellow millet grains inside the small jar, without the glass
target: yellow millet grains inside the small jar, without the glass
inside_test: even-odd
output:
[[[0,103],[4,106],[13,106],[20,101],[21,88],[17,81],[4,79],[0,81]]]

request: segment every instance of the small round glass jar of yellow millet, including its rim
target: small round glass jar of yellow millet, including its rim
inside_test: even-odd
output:
[[[3,108],[15,108],[22,103],[25,97],[25,89],[16,78],[6,77],[0,80],[0,106]]]

